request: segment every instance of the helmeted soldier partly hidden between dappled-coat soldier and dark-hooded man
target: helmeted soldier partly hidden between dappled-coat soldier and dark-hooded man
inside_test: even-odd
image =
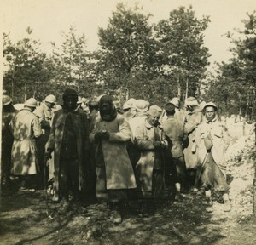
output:
[[[56,104],[55,95],[49,94],[41,102],[41,104],[34,111],[34,114],[38,117],[40,126],[42,128],[42,136],[37,140],[38,147],[38,165],[40,173],[38,176],[38,188],[44,188],[44,178],[53,178],[53,163],[49,161],[49,172],[46,173],[49,176],[44,176],[44,152],[45,144],[49,139],[50,122],[54,115],[54,107]]]

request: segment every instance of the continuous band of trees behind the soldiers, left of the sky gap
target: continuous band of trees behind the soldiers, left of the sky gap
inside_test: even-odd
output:
[[[85,36],[72,26],[62,33],[63,43],[52,43],[52,54],[40,51],[40,43],[27,37],[17,43],[4,36],[3,55],[8,71],[3,87],[15,102],[27,97],[43,100],[46,94],[61,96],[73,86],[79,94],[113,94],[123,102],[143,98],[164,105],[166,100],[198,94],[209,57],[203,46],[208,17],[198,20],[192,7],[170,12],[169,19],[150,25],[150,14],[137,6],[117,5],[107,28],[99,28],[99,48],[86,49]],[[24,95],[25,94],[25,95]]]

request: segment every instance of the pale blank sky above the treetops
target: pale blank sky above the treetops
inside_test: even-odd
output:
[[[40,40],[42,50],[49,53],[50,42],[60,45],[61,31],[67,32],[70,26],[75,26],[79,35],[85,35],[88,50],[93,51],[97,48],[98,28],[108,26],[120,2],[131,8],[135,3],[143,6],[143,14],[153,14],[151,23],[167,19],[170,11],[180,6],[191,5],[198,19],[209,16],[205,46],[212,55],[211,67],[215,61],[228,61],[231,57],[230,40],[224,34],[242,29],[241,20],[247,19],[247,12],[252,14],[256,10],[255,0],[1,0],[0,30],[9,32],[11,40],[16,42],[26,37],[26,27],[30,26],[32,37]]]

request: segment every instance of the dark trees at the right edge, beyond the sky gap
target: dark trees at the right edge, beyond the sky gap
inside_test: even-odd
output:
[[[234,44],[230,48],[229,62],[218,64],[216,76],[208,79],[203,100],[218,101],[226,113],[245,117],[248,122],[255,120],[256,109],[256,12],[247,14],[243,20],[244,29],[237,30],[241,37],[227,37]]]

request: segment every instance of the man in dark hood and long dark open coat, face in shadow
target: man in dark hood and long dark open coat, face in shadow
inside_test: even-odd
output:
[[[62,99],[63,108],[55,111],[53,117],[45,157],[49,159],[54,151],[55,197],[62,198],[60,212],[65,213],[86,188],[89,125],[84,111],[77,107],[78,94],[74,89],[67,88]]]

